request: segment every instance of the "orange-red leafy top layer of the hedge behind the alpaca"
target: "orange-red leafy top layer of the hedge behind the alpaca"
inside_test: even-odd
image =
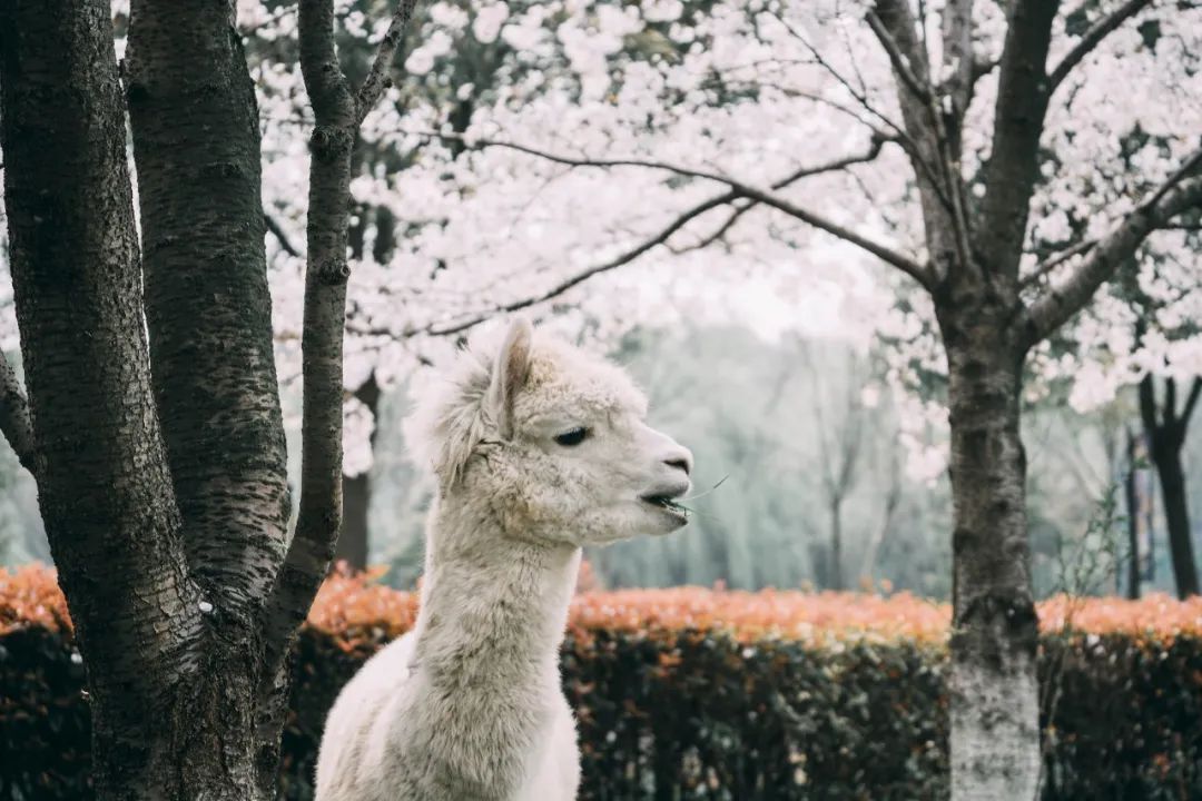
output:
[[[409,630],[417,617],[417,596],[376,581],[380,573],[333,575],[309,611],[308,624],[338,634],[353,647],[380,642]],[[1202,598],[1179,602],[1164,594],[1139,600],[1055,597],[1039,605],[1045,633],[1065,629],[1085,634],[1126,634],[1172,640],[1202,638]],[[740,592],[676,587],[618,590],[577,594],[569,626],[577,636],[611,632],[722,630],[743,642],[787,639],[821,645],[849,639],[944,642],[951,621],[947,604],[906,592],[889,596],[850,592]],[[70,615],[54,572],[28,566],[0,568],[0,636],[16,627],[42,626],[70,632]]]

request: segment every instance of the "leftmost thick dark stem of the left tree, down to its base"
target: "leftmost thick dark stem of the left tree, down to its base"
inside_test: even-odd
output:
[[[250,797],[230,736],[249,688],[204,656],[209,602],[150,384],[108,2],[6,2],[0,54],[34,473],[88,670],[97,797]]]

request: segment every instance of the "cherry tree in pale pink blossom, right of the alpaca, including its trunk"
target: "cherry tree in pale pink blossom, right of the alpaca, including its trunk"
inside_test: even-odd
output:
[[[934,321],[947,382],[953,796],[1033,797],[1024,372],[1120,268],[1182,251],[1172,228],[1202,201],[1200,14],[1152,0],[432,13],[411,70],[499,36],[516,79],[468,126],[438,109],[368,120],[421,154],[406,186],[446,191],[419,195],[416,268],[361,285],[358,324],[387,349],[558,300],[587,313],[614,291],[630,315],[651,282],[660,298],[762,275],[796,291],[822,253],[893,269]],[[553,78],[518,68],[557,60]],[[1155,141],[1132,155],[1135,130]],[[617,270],[636,261],[637,282]]]

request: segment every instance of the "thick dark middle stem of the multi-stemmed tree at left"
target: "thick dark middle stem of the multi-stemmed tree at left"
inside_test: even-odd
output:
[[[189,562],[249,647],[288,518],[254,84],[226,1],[133,0],[126,64],[151,375]]]

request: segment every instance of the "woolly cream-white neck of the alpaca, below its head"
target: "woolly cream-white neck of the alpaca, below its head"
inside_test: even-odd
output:
[[[427,539],[416,665],[465,704],[498,687],[558,691],[579,549],[524,540],[487,509],[444,502]]]

